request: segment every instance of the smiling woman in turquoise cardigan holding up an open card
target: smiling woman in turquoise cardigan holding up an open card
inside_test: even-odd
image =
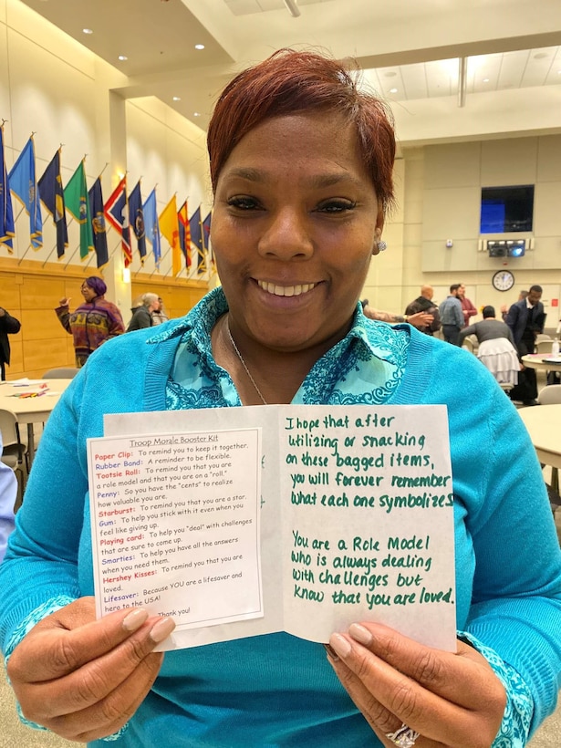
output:
[[[358,304],[393,203],[382,105],[337,62],[285,50],[225,88],[208,146],[223,288],[110,341],[73,380],[0,568],[27,719],[96,748],[119,730],[117,748],[523,745],[556,701],[561,554],[532,445],[488,372]],[[290,402],[447,404],[457,652],[358,621],[327,659],[278,633],[163,660],[171,619],[94,620],[85,440],[103,413]]]

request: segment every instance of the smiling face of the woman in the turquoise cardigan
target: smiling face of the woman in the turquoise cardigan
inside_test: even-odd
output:
[[[383,218],[355,130],[329,114],[269,119],[216,185],[213,253],[238,332],[276,350],[343,338]]]

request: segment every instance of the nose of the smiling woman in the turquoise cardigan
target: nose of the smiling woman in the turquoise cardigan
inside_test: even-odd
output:
[[[281,260],[306,259],[314,253],[306,216],[291,208],[274,213],[259,239],[261,255]]]

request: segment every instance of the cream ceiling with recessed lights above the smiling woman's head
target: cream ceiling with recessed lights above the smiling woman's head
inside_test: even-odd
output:
[[[237,70],[317,47],[357,60],[402,142],[561,132],[560,0],[299,0],[296,18],[284,0],[22,2],[125,73],[124,97],[203,129]]]

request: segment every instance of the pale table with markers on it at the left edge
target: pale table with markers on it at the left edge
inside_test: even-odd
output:
[[[34,423],[45,423],[51,414],[60,395],[67,389],[72,379],[41,379],[41,383],[46,382],[48,390],[45,395],[36,398],[18,398],[14,395],[22,394],[30,390],[37,390],[39,384],[34,383],[28,386],[16,387],[13,382],[2,382],[0,384],[0,408],[3,410],[12,410],[16,413],[17,421],[20,424],[27,424],[27,452],[29,454],[29,464],[33,462],[35,455],[35,431]]]

